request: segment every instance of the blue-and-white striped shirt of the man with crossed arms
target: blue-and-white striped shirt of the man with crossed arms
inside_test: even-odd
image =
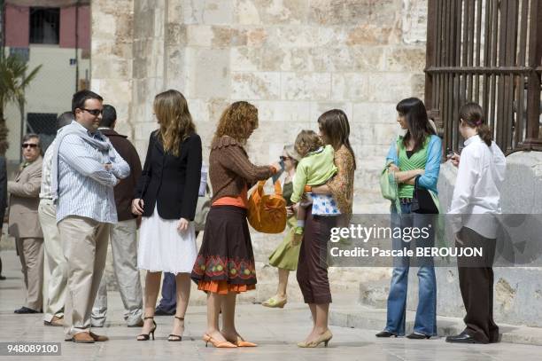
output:
[[[99,131],[89,135],[108,141]],[[99,151],[76,134],[62,138],[58,149],[57,222],[66,216],[84,216],[100,223],[117,223],[113,186],[128,177],[130,167],[119,153],[114,154],[110,158],[108,152]],[[106,163],[111,163],[111,170],[105,169]]]

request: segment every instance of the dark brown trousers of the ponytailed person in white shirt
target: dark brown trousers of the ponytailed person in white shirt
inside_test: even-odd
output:
[[[458,257],[461,296],[467,315],[465,332],[477,341],[499,341],[499,326],[493,321],[493,269],[496,239],[487,239],[463,227],[456,247],[479,247],[480,257]]]

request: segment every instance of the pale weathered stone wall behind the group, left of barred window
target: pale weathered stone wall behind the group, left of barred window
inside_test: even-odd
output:
[[[248,147],[261,164],[341,108],[360,164],[360,208],[380,201],[396,103],[422,98],[426,12],[426,0],[97,0],[92,88],[117,106],[142,154],[159,91],[182,91],[204,145],[225,106],[250,101],[259,129]]]

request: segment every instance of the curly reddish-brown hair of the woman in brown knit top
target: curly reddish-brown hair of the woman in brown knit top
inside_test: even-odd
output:
[[[213,140],[229,136],[244,144],[254,129],[258,129],[258,108],[246,101],[237,101],[222,113]]]

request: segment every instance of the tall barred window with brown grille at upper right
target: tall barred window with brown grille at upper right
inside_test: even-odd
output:
[[[505,153],[542,151],[542,0],[429,0],[425,103],[458,149],[474,101]]]

